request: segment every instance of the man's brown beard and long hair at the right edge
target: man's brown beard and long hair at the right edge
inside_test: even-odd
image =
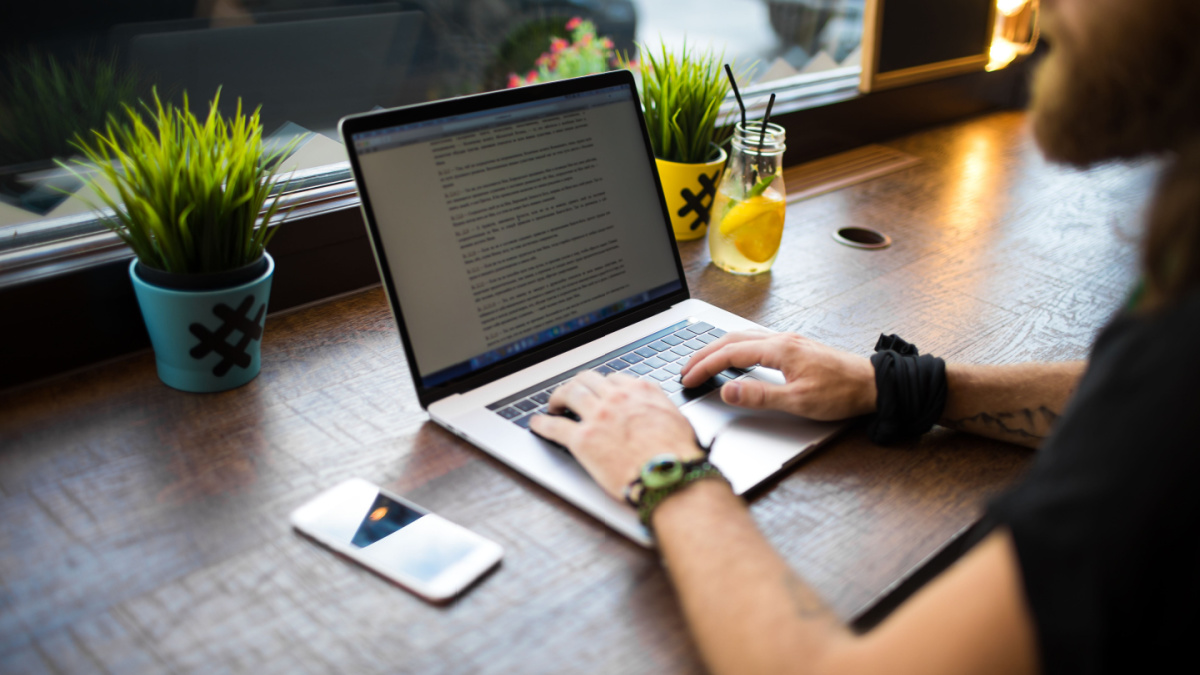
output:
[[[1081,167],[1169,156],[1142,247],[1153,309],[1200,287],[1200,1],[1078,1],[1072,31],[1048,13],[1034,131],[1049,159]]]

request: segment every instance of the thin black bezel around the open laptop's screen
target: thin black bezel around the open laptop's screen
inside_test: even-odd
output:
[[[397,300],[398,294],[396,293],[395,282],[391,275],[391,268],[388,264],[388,255],[383,246],[383,240],[379,233],[379,225],[374,219],[374,211],[371,208],[371,195],[366,187],[366,181],[362,177],[362,169],[359,163],[359,156],[355,150],[354,135],[364,133],[370,131],[378,131],[382,129],[389,129],[394,126],[401,126],[407,124],[414,124],[432,119],[440,119],[455,115],[462,115],[468,113],[475,113],[480,110],[502,108],[506,106],[516,106],[521,103],[529,103],[535,101],[542,101],[547,98],[554,98],[559,96],[566,96],[571,94],[580,94],[586,91],[593,91],[596,89],[611,88],[611,86],[625,86],[632,96],[632,104],[637,110],[638,129],[642,132],[642,142],[646,147],[646,154],[643,155],[644,161],[650,163],[650,175],[654,178],[654,189],[658,191],[659,207],[661,209],[661,227],[662,235],[667,237],[671,243],[671,253],[674,259],[676,275],[679,280],[679,289],[662,295],[658,299],[650,300],[644,305],[640,305],[632,310],[624,313],[607,317],[594,324],[590,324],[580,330],[569,333],[562,338],[557,338],[544,345],[533,347],[526,352],[514,354],[512,357],[502,359],[493,364],[486,365],[479,370],[466,374],[461,377],[454,378],[451,381],[426,387],[421,380],[420,370],[416,365],[416,356],[413,351],[413,341],[409,336],[408,324],[404,319],[404,312],[400,306]],[[401,342],[404,346],[404,357],[408,360],[409,374],[413,378],[413,386],[416,388],[416,399],[421,405],[421,408],[427,408],[431,404],[439,401],[446,396],[452,396],[455,394],[461,394],[476,389],[494,382],[502,377],[517,372],[522,369],[529,368],[536,363],[544,362],[554,356],[562,354],[575,347],[596,340],[598,338],[619,330],[626,325],[632,325],[638,321],[650,317],[655,313],[664,311],[672,305],[682,303],[690,298],[690,292],[688,289],[688,279],[684,274],[683,261],[679,257],[679,247],[674,243],[674,231],[671,227],[671,215],[667,211],[666,198],[662,191],[662,183],[659,179],[659,172],[655,162],[653,161],[654,151],[650,145],[650,138],[646,130],[646,120],[641,114],[641,100],[637,96],[637,88],[634,82],[634,76],[629,71],[613,71],[600,74],[584,76],[572,79],[564,79],[558,82],[550,82],[545,84],[535,84],[529,86],[521,86],[516,89],[506,89],[500,91],[491,91],[486,94],[476,94],[472,96],[462,96],[458,98],[449,98],[444,101],[433,101],[428,103],[418,103],[414,106],[407,106],[403,108],[392,108],[388,110],[377,110],[371,113],[362,113],[356,115],[349,115],[342,118],[338,124],[340,135],[343,143],[346,144],[347,153],[350,160],[350,169],[354,173],[354,181],[359,189],[360,205],[362,209],[362,217],[366,222],[368,239],[371,240],[371,247],[374,251],[376,263],[379,268],[379,276],[383,281],[384,292],[388,295],[388,304],[391,307],[391,313],[396,319],[396,325],[400,329]],[[647,219],[652,220],[652,219]]]

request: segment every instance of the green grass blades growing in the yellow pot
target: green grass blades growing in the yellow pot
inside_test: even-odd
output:
[[[710,162],[720,156],[718,145],[732,133],[719,120],[730,83],[721,70],[724,53],[689,50],[678,54],[661,44],[638,49],[638,62],[628,64],[641,76],[642,107],[654,156],[668,162]]]

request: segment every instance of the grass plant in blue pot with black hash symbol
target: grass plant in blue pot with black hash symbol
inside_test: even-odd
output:
[[[186,92],[175,107],[154,91],[154,106],[142,104],[149,123],[126,104],[125,124],[109,117],[104,131],[76,136],[86,163],[60,162],[108,207],[102,220],[133,249],[130,277],[158,377],[185,392],[232,389],[258,375],[275,271],[265,246],[282,195],[276,171],[299,142],[266,151],[259,110],[247,117],[239,100],[224,118],[220,96],[200,120]]]

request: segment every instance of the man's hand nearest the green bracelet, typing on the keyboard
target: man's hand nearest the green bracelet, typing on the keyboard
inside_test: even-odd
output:
[[[642,466],[654,455],[671,453],[690,460],[702,453],[691,424],[650,382],[614,372],[607,377],[584,371],[554,390],[550,412],[570,410],[574,422],[541,414],[530,428],[539,436],[566,446],[596,483],[622,498]]]

